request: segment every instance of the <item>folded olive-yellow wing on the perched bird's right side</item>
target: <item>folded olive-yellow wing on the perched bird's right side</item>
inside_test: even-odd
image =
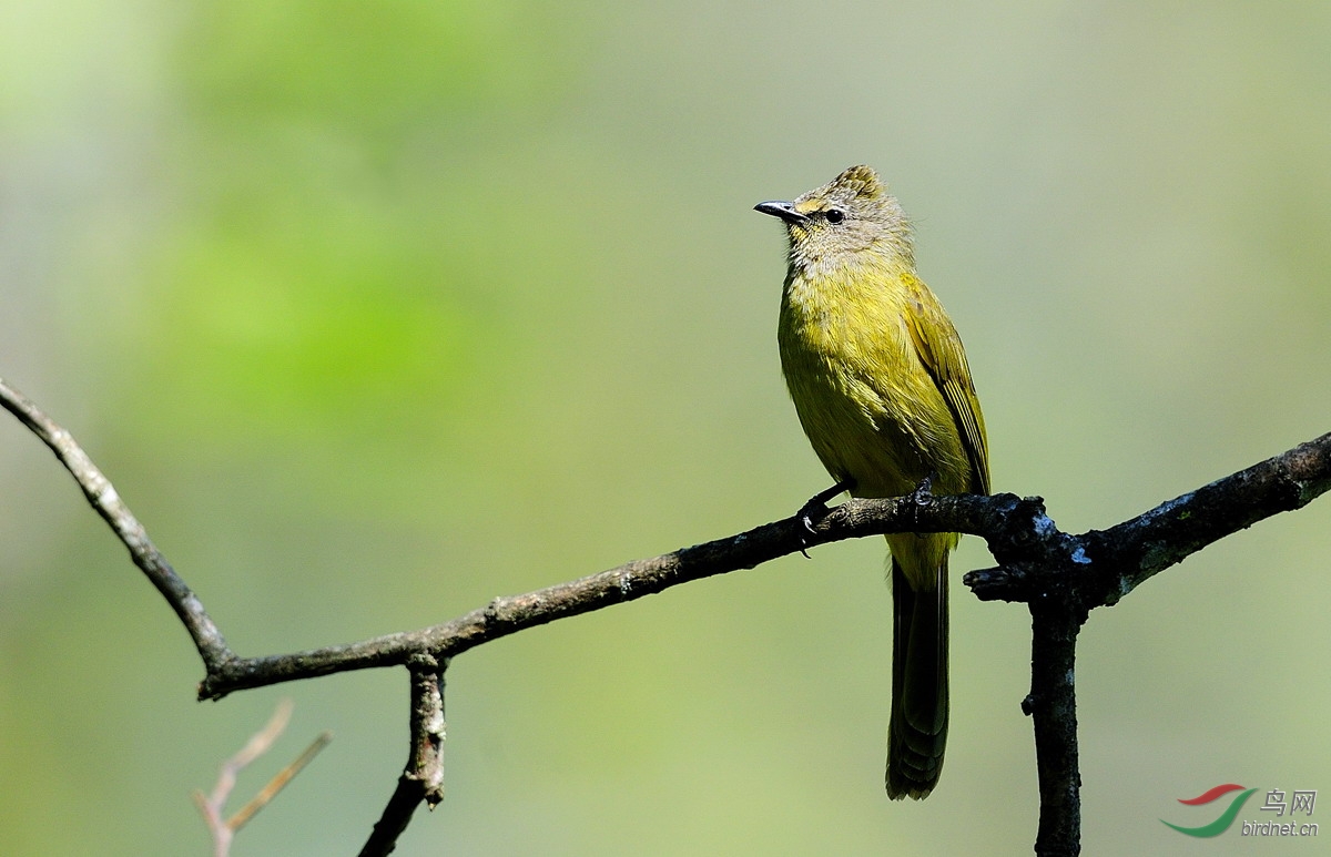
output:
[[[980,413],[980,398],[970,382],[970,367],[961,347],[961,337],[942,305],[914,274],[902,274],[901,282],[910,294],[906,307],[906,329],[914,342],[920,361],[933,383],[942,393],[952,418],[957,423],[961,446],[970,459],[974,472],[972,490],[989,494],[989,444],[985,440],[985,418]]]

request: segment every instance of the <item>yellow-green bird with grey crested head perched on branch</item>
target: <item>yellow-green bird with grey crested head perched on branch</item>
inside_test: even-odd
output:
[[[792,202],[760,202],[791,240],[781,370],[831,491],[989,494],[980,399],[961,338],[916,274],[910,225],[877,173],[852,166]],[[960,536],[897,534],[892,555],[888,794],[922,798],[948,740],[948,554]]]

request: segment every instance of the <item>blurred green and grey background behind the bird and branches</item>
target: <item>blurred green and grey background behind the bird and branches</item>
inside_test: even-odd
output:
[[[1106,527],[1331,428],[1331,7],[1151,5],[8,1],[0,377],[241,653],[417,628],[827,484],[749,209],[869,162],[965,337],[994,488]],[[1210,821],[1175,800],[1218,782],[1331,789],[1328,524],[1264,522],[1091,616],[1086,853],[1251,853],[1158,818]],[[461,657],[449,797],[398,853],[1029,853],[1020,607],[956,587],[946,776],[882,792],[882,552]],[[354,853],[405,673],[218,704],[200,676],[0,419],[0,853],[208,853],[189,790],[282,696],[242,796],[335,739],[233,853]]]

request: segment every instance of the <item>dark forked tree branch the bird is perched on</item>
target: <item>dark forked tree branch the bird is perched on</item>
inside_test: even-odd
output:
[[[291,655],[238,657],[202,604],[148,539],[116,490],[64,428],[0,381],[0,405],[55,451],[153,586],[180,616],[205,667],[200,699],[370,667],[411,672],[413,756],[362,854],[387,854],[418,802],[442,798],[443,669],[470,648],[556,619],[631,601],[669,587],[753,568],[805,547],[890,532],[982,536],[998,567],[964,583],[982,600],[1025,601],[1032,612],[1032,685],[1041,816],[1037,853],[1073,856],[1081,840],[1075,645],[1089,613],[1207,544],[1331,490],[1331,434],[1105,531],[1061,532],[1040,498],[930,496],[848,500],[813,522],[800,515],[725,539],[635,560],[526,595],[498,598],[449,623]],[[435,728],[437,727],[437,728]],[[375,850],[378,849],[378,850]]]

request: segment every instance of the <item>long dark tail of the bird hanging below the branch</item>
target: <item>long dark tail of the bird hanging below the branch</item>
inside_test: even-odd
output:
[[[948,558],[933,586],[892,559],[892,720],[888,797],[929,796],[948,743]]]

